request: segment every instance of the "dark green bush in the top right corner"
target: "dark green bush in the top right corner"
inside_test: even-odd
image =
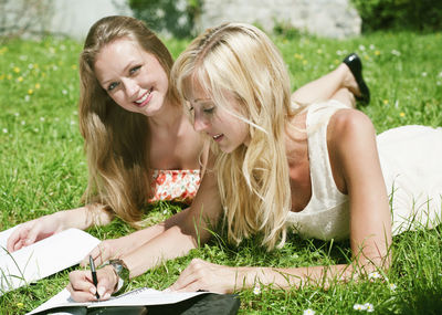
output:
[[[362,31],[442,30],[442,1],[351,0],[362,19]]]

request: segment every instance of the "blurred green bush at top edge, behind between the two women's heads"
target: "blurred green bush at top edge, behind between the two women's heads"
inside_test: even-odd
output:
[[[135,18],[145,21],[151,30],[187,38],[192,34],[202,0],[129,0],[129,6]]]

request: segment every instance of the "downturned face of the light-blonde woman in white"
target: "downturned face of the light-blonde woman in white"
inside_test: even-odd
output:
[[[229,103],[229,111],[217,106],[199,84],[194,84],[189,111],[193,115],[193,128],[197,132],[208,134],[224,153],[232,153],[241,145],[249,145],[249,125],[232,115],[239,113],[240,103],[232,95],[225,92],[225,99]]]

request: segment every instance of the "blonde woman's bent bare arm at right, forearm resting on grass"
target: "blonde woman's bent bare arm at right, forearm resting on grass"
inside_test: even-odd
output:
[[[391,219],[371,122],[360,112],[336,113],[329,123],[327,144],[337,187],[349,196],[351,264],[309,267],[230,267],[193,260],[172,290],[210,290],[221,293],[273,284],[327,287],[359,274],[387,269],[390,261]]]

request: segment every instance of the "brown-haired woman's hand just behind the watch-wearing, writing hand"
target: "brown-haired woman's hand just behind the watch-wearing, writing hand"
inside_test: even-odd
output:
[[[125,240],[125,238],[119,238],[101,242],[83,259],[81,266],[87,266],[90,264],[90,255],[92,255],[97,266],[104,264],[108,260],[119,259],[128,249],[133,249]]]

